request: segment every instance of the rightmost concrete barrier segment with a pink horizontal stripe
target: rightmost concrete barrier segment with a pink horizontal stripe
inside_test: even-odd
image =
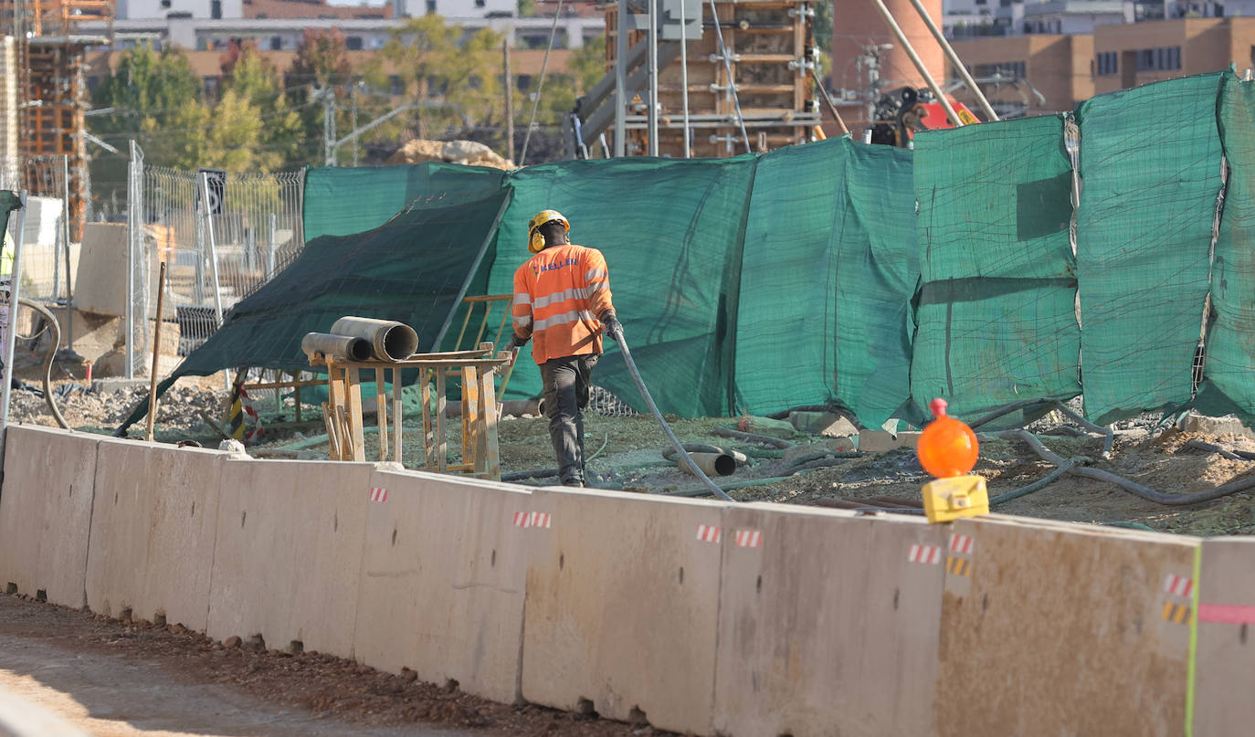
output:
[[[1249,734],[1255,723],[1255,537],[1204,540],[1194,734]]]

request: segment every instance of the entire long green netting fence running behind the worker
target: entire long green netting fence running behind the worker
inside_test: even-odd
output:
[[[508,293],[528,257],[527,220],[556,208],[574,242],[606,255],[619,316],[664,412],[825,404],[878,426],[922,421],[935,395],[963,417],[1083,394],[1084,413],[1111,422],[1188,406],[1205,338],[1197,401],[1255,418],[1245,380],[1255,369],[1251,90],[1232,73],[1160,82],[1096,97],[1074,117],[925,133],[914,152],[841,138],[728,159],[505,173],[311,169],[305,252],[171,380],[241,365],[307,369],[300,335],[346,313],[409,315],[428,340],[442,336],[424,350],[448,349],[449,331],[425,328],[463,319],[448,285]],[[1230,196],[1217,221],[1225,154]],[[503,193],[508,202],[491,198]],[[438,229],[394,218],[415,202],[410,217],[441,213]],[[467,202],[478,202],[473,216],[447,217]],[[492,202],[506,202],[499,221]],[[369,299],[312,295],[318,319],[264,316],[292,309],[276,299],[281,285],[379,242],[385,222],[393,267],[468,271],[435,286],[380,285]],[[409,304],[432,289],[447,299]],[[247,334],[235,328],[245,324]],[[615,352],[596,382],[639,408]],[[508,394],[538,392],[525,349]]]

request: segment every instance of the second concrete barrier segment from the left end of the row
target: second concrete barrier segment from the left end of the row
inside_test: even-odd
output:
[[[226,455],[104,438],[97,456],[88,606],[203,632]]]

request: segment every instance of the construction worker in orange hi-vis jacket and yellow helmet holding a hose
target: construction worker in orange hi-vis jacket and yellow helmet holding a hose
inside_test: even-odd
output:
[[[542,210],[527,223],[527,249],[536,254],[515,271],[513,335],[508,349],[532,340],[541,367],[545,416],[563,486],[584,486],[584,408],[601,334],[622,342],[610,301],[606,259],[567,240],[571,223]]]

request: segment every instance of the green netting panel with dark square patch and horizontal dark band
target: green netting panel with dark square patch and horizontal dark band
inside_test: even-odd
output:
[[[1081,393],[1063,123],[1025,118],[915,138],[917,403],[944,397],[965,417]]]

